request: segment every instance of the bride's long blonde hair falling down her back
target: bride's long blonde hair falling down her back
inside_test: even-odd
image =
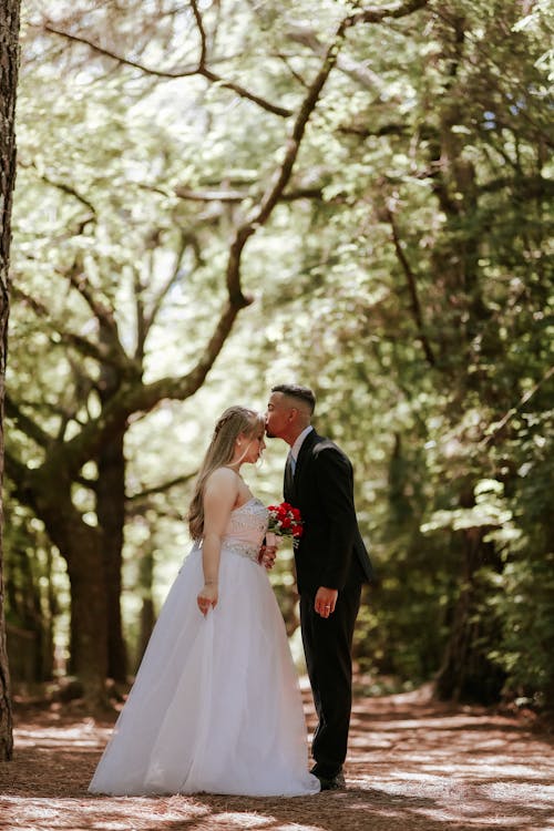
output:
[[[264,429],[264,416],[246,407],[227,408],[216,422],[188,505],[188,530],[193,540],[199,540],[204,532],[204,485],[207,478],[217,468],[223,468],[233,461],[236,440],[239,435],[250,439],[260,429]]]

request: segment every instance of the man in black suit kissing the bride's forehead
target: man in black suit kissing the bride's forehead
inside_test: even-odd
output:
[[[311,753],[321,790],[345,786],[352,704],[351,646],[361,584],[372,568],[353,503],[352,465],[310,424],[316,406],[308,387],[271,389],[266,413],[269,439],[290,445],[285,501],[300,510],[304,533],[295,545],[304,652],[319,719]]]

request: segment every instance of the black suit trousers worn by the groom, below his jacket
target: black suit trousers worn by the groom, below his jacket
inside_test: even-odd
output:
[[[300,595],[300,624],[306,665],[318,716],[311,755],[318,776],[334,777],[347,755],[352,707],[352,638],[361,584],[350,579],[327,618],[314,608],[315,594]]]

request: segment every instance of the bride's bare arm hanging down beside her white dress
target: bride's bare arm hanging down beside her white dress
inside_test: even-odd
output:
[[[212,473],[204,489],[204,586],[197,596],[198,608],[204,615],[211,606],[215,607],[217,604],[222,538],[237,495],[235,473],[222,468]]]

